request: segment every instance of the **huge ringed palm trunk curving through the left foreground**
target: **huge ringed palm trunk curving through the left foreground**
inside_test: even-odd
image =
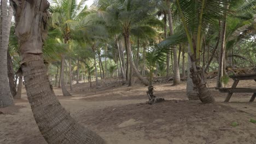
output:
[[[48,1],[19,2],[20,5],[15,8],[19,11],[16,13],[16,34],[22,57],[21,68],[28,101],[40,132],[49,144],[105,143],[100,136],[75,122],[63,109],[50,86],[42,56],[43,40],[47,35]]]

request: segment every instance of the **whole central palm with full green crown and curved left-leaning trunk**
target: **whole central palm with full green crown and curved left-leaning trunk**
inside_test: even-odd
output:
[[[106,7],[106,3],[108,4],[108,7]],[[109,3],[107,1],[98,1],[98,7],[100,7],[100,9],[106,9],[106,12],[102,12],[101,14],[104,15],[103,18],[106,21],[107,26],[112,26],[112,29],[115,29],[114,32],[121,32],[123,34],[127,52],[127,61],[129,61],[129,65],[138,79],[146,86],[149,84],[148,80],[141,76],[136,68],[135,62],[133,61],[131,50],[131,31],[133,28],[137,28],[139,26],[155,26],[155,20],[151,21],[152,17],[150,17],[150,13],[152,13],[153,10],[152,5],[152,2],[144,0],[112,1]],[[146,8],[144,6],[146,6]],[[144,8],[142,9],[142,7]],[[131,85],[131,83],[129,83],[129,85]]]

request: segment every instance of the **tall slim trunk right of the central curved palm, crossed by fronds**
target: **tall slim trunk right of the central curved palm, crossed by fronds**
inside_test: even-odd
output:
[[[173,25],[172,25],[172,12],[170,8],[170,1],[166,1],[167,4],[167,12],[168,12],[168,22],[169,22],[169,29],[170,35],[173,35]],[[178,65],[178,57],[177,57],[177,47],[172,47],[173,51],[173,85],[178,85],[181,83],[181,76],[179,75],[179,65]]]

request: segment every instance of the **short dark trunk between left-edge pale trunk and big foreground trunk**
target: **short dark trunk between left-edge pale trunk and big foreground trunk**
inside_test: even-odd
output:
[[[8,80],[10,86],[11,95],[16,95],[16,85],[14,83],[14,70],[13,70],[13,61],[11,60],[11,56],[9,51],[7,52],[7,68],[8,68]]]

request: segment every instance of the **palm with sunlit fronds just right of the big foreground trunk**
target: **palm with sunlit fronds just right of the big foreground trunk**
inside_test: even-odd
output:
[[[68,44],[71,39],[71,32],[74,30],[75,23],[82,16],[87,14],[87,7],[83,7],[85,0],[80,1],[77,4],[75,0],[63,0],[63,1],[52,1],[54,6],[50,8],[51,13],[51,24],[54,28],[62,31],[62,39],[64,44]],[[66,47],[68,49],[68,46]],[[64,64],[65,64],[65,53],[61,54],[61,89],[64,96],[71,95],[66,87],[64,80]],[[72,83],[70,82],[70,85]],[[72,87],[71,87],[72,89]]]

